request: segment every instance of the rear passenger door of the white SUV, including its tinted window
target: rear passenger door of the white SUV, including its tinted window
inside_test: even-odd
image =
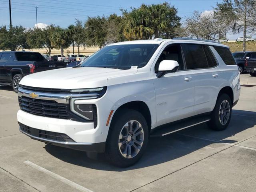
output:
[[[194,115],[210,112],[219,90],[219,68],[209,46],[182,44],[186,69],[192,71],[194,82]]]

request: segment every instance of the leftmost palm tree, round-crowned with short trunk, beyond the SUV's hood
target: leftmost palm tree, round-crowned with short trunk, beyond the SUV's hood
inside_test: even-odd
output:
[[[60,28],[59,26],[56,27],[52,33],[51,42],[54,48],[60,48],[60,54],[62,57],[64,48],[68,48],[68,46],[71,44],[67,30]]]

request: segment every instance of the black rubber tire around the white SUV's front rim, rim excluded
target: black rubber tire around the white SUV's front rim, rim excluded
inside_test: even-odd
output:
[[[120,153],[119,146],[118,146],[118,139],[123,126],[126,124],[126,122],[130,120],[136,120],[140,122],[144,131],[144,140],[143,140],[143,145],[142,145],[142,148],[140,149],[140,152],[133,158],[128,159],[128,158],[124,158],[124,156],[122,156],[122,154]],[[112,120],[110,124],[110,130],[109,130],[107,145],[106,145],[106,152],[108,153],[108,156],[111,162],[121,167],[130,166],[141,158],[141,156],[146,150],[147,144],[148,144],[148,125],[144,116],[142,116],[140,112],[136,110],[131,110],[131,109],[118,111],[118,115],[115,116],[115,118]]]

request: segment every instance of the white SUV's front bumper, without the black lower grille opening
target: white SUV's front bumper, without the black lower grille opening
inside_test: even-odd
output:
[[[38,130],[66,134],[74,142],[60,142],[49,140],[47,138],[40,138],[20,131],[28,135],[32,139],[36,139],[45,143],[72,148],[76,150],[88,152],[104,152],[106,139],[102,138],[103,134],[100,129],[94,128],[93,122],[77,122],[72,120],[48,118],[29,114],[22,110],[17,113],[19,124],[23,124],[30,128]]]

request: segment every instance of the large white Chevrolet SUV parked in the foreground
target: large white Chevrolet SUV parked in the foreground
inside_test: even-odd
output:
[[[33,139],[105,152],[113,164],[130,166],[150,134],[204,122],[224,130],[239,95],[240,73],[228,46],[157,38],[111,44],[76,67],[25,76],[17,117],[20,131]]]

